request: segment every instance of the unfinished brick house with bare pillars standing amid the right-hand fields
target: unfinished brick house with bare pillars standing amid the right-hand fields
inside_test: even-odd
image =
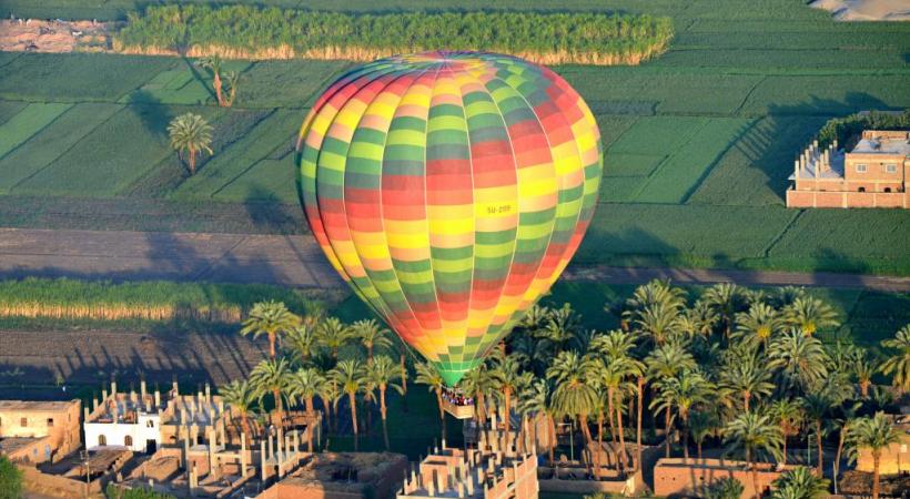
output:
[[[812,142],[796,160],[787,207],[910,207],[910,132],[867,130],[850,150]]]

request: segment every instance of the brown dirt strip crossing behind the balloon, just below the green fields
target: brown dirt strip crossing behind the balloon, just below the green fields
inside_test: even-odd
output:
[[[0,278],[211,281],[334,288],[342,281],[309,235],[0,228]],[[641,284],[734,282],[910,292],[910,277],[835,273],[570,266],[570,281]]]

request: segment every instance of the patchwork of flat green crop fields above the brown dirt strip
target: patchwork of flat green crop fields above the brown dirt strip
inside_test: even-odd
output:
[[[249,3],[351,12],[486,6]],[[123,19],[143,4],[11,0],[0,14]],[[538,0],[497,9],[557,10]],[[590,105],[606,146],[600,205],[577,262],[910,275],[906,211],[783,207],[792,157],[828,119],[910,108],[910,24],[835,22],[798,0],[568,0],[558,10],[669,16],[676,33],[669,52],[639,67],[554,68]],[[241,83],[225,110],[191,62],[0,53],[0,130],[16,129],[0,133],[0,225],[304,231],[293,141],[320,89],[351,63],[230,62]],[[186,111],[215,126],[215,154],[192,179],[164,132]],[[26,208],[39,198],[38,214]],[[111,203],[123,206],[115,220]],[[173,215],[156,216],[162,210]]]

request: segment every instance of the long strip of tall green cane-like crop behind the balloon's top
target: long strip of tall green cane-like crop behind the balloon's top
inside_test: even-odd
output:
[[[370,61],[487,50],[546,64],[637,64],[667,50],[669,18],[606,13],[347,14],[253,6],[150,6],[114,37],[127,53]]]

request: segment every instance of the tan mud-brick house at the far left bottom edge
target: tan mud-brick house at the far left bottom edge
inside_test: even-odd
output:
[[[82,444],[81,403],[0,400],[0,456],[12,461],[57,461]]]

